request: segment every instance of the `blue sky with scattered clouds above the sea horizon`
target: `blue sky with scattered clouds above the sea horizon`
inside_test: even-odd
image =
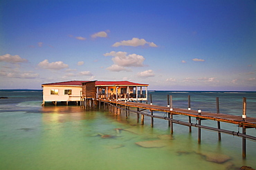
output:
[[[256,1],[0,0],[0,89],[256,91]]]

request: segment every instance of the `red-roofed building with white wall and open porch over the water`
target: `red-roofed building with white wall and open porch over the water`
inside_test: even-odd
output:
[[[147,100],[148,84],[130,81],[64,81],[42,84],[45,102],[75,101],[82,98],[108,98],[115,100]]]

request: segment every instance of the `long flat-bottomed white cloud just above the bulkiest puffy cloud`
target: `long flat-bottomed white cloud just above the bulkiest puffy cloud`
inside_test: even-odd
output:
[[[133,39],[127,40],[127,41],[124,40],[124,41],[116,42],[112,46],[113,47],[119,47],[120,45],[125,45],[125,46],[137,47],[137,46],[140,46],[140,45],[143,46],[145,44],[148,44],[150,47],[158,47],[153,42],[147,42],[147,41],[145,41],[145,39],[138,39],[138,38],[133,38]]]

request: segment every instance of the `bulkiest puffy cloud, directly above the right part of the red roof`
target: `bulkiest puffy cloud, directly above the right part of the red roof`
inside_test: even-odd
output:
[[[127,52],[109,52],[104,56],[114,56],[112,61],[115,65],[122,67],[143,67],[143,61],[145,58],[138,54],[129,54]]]

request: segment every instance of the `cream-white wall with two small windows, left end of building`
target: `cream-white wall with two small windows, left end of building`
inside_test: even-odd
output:
[[[51,94],[51,89],[58,89],[59,94]],[[72,89],[72,94],[64,94],[65,89]],[[80,101],[80,91],[82,87],[75,86],[44,86],[43,100],[44,101]]]

